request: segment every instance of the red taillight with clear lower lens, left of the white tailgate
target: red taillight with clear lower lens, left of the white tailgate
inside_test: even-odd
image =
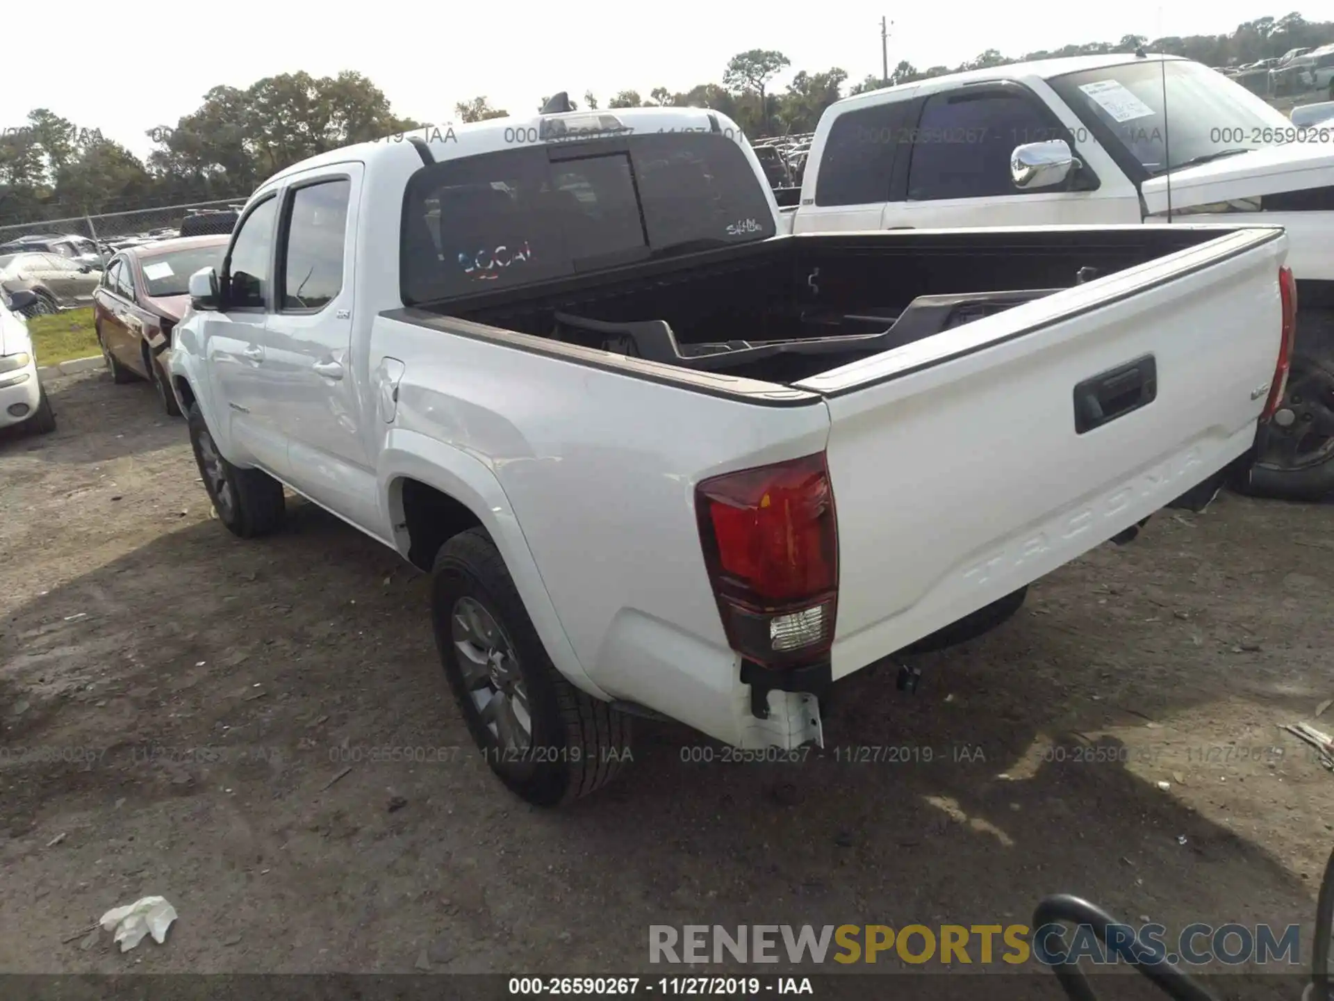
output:
[[[695,488],[718,610],[732,649],[766,667],[834,639],[838,526],[824,455],[727,472]]]

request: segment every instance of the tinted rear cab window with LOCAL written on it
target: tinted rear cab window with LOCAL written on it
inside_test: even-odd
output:
[[[446,160],[414,175],[403,212],[406,303],[774,235],[772,210],[744,152],[714,133]]]

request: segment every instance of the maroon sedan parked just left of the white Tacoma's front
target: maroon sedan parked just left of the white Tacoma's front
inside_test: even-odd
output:
[[[127,247],[111,259],[93,294],[97,343],[116,382],[147,379],[163,407],[180,416],[159,355],[189,306],[187,284],[200,268],[221,270],[229,235],[185,236]]]

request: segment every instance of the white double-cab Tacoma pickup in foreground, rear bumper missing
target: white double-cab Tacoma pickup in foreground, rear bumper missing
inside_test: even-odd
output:
[[[636,714],[820,742],[832,682],[1133,534],[1282,391],[1281,228],[775,228],[699,109],[283,171],[168,362],[219,518],[285,486],[434,574],[474,738],[556,803]]]

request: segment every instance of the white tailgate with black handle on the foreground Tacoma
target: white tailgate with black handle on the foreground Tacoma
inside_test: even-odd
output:
[[[830,411],[834,677],[1242,455],[1278,360],[1286,248],[1281,230],[1237,231],[796,383]]]

